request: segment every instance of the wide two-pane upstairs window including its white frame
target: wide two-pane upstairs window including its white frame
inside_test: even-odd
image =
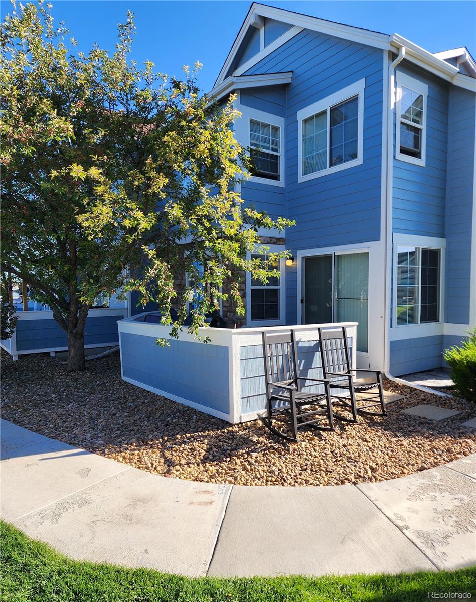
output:
[[[360,79],[298,111],[298,181],[362,163],[364,90]]]

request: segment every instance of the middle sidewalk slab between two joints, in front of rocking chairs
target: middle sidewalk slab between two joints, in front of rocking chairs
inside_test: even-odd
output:
[[[235,486],[208,575],[431,569],[424,554],[353,485]]]

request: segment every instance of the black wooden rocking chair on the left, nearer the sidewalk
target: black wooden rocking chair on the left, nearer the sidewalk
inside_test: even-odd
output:
[[[286,441],[298,441],[298,431],[305,427],[333,431],[329,382],[299,375],[294,333],[263,332],[263,353],[267,415],[260,417],[262,423],[274,435]],[[324,393],[304,393],[301,390],[303,381],[323,384]],[[320,407],[310,410],[304,406]],[[277,416],[288,422],[292,436],[286,435],[274,426],[273,421]]]

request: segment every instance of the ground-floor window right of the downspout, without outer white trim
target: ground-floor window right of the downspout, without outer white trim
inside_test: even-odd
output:
[[[395,281],[396,326],[440,321],[441,248],[396,244]]]

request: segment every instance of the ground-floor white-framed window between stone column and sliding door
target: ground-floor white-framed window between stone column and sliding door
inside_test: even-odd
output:
[[[270,253],[284,250],[280,245],[267,245]],[[263,258],[265,255],[251,253],[249,258]],[[279,263],[271,270],[278,270],[280,278],[270,277],[265,284],[251,277],[246,278],[246,320],[248,326],[262,326],[273,324],[279,326],[285,322],[285,262],[280,259]]]

